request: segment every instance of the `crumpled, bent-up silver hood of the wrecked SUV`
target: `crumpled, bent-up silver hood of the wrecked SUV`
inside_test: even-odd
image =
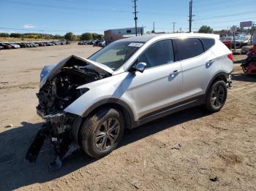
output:
[[[67,61],[69,61],[70,58],[76,58],[80,61],[84,61],[85,63],[97,66],[97,68],[107,71],[109,74],[113,74],[113,72],[114,72],[112,69],[110,69],[108,66],[105,66],[102,63],[90,61],[89,59],[80,57],[78,55],[71,55],[68,58],[64,58],[62,61],[60,61],[55,66],[49,66],[49,67],[46,66],[44,69],[42,69],[41,73],[44,72],[44,70],[45,70],[45,72],[47,72],[47,74],[45,75],[45,77],[42,77],[39,87],[41,88],[43,85],[45,85],[45,82],[48,79],[52,79],[55,76],[55,74],[59,73],[59,71],[61,71],[61,69],[65,66],[65,63],[67,63]]]

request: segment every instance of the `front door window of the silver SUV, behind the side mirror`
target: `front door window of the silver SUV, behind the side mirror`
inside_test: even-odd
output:
[[[151,44],[138,58],[138,62],[147,64],[146,68],[172,63],[173,61],[173,44],[170,39]]]

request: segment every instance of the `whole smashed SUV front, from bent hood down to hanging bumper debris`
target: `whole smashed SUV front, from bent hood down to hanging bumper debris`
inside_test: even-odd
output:
[[[48,70],[41,72],[41,82],[37,98],[37,114],[45,123],[37,133],[36,138],[29,147],[26,159],[35,162],[45,139],[49,139],[56,154],[56,160],[50,163],[51,168],[61,168],[62,161],[76,149],[79,149],[78,130],[82,117],[64,112],[80,95],[88,89],[77,89],[80,85],[110,77],[108,71],[91,64],[84,58],[72,55],[66,60]]]

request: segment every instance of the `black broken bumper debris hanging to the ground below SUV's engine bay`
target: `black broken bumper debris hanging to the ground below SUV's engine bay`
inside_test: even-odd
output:
[[[79,149],[78,142],[74,139],[73,128],[78,129],[81,120],[65,112],[50,114],[44,118],[45,123],[29,147],[26,159],[30,163],[35,163],[45,139],[48,139],[56,154],[56,160],[49,164],[49,168],[60,169],[64,158]]]

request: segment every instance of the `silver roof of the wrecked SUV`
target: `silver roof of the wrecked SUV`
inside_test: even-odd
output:
[[[143,36],[135,36],[127,39],[120,39],[118,42],[148,42],[151,39],[165,39],[165,38],[186,38],[186,37],[208,37],[219,39],[217,34],[197,34],[197,33],[177,33],[177,34],[146,34]]]

